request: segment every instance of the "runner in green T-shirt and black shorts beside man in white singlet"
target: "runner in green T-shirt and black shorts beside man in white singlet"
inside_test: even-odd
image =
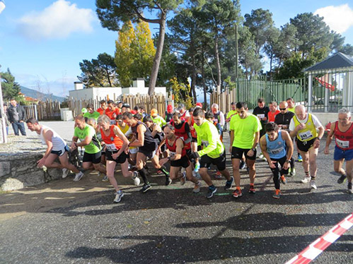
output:
[[[77,140],[80,140],[80,142],[78,143]],[[102,147],[96,136],[96,131],[92,126],[86,124],[85,118],[82,115],[75,117],[75,130],[72,137],[71,150],[77,147],[85,148],[82,163],[83,169],[96,169],[98,172],[107,174],[105,167],[100,163],[102,155],[100,150]]]

